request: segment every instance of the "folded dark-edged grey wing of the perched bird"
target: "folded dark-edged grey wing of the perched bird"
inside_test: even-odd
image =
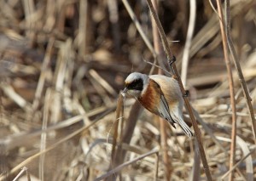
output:
[[[175,125],[173,124],[175,121],[173,120],[173,118],[170,114],[169,105],[166,101],[166,97],[165,97],[164,93],[162,92],[160,86],[158,87],[158,90],[160,93],[160,103],[159,103],[159,107],[158,107],[159,114],[160,114],[160,116],[165,118],[168,122],[170,122],[172,127],[175,127]]]

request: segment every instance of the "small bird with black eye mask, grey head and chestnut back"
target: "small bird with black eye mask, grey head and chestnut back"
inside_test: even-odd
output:
[[[172,127],[177,123],[188,136],[193,132],[183,121],[183,94],[177,79],[164,75],[146,75],[132,72],[125,79],[123,96],[134,97],[144,108],[164,118]]]

